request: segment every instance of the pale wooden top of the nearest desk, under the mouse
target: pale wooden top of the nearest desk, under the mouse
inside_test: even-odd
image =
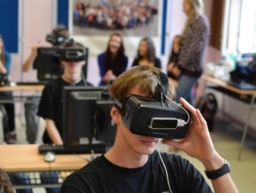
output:
[[[38,172],[38,171],[70,171],[73,172],[85,166],[86,157],[90,154],[57,154],[55,161],[44,161],[44,156],[38,151],[39,144],[0,145],[0,167],[6,172]],[[50,168],[51,167],[51,168]],[[56,187],[55,185],[30,184],[14,186],[14,188]]]

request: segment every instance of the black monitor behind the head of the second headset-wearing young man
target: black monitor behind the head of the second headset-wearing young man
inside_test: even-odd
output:
[[[86,64],[82,71],[87,78],[88,49],[86,48]],[[38,47],[37,59],[35,63],[37,69],[37,79],[47,81],[59,78],[63,74],[64,66],[60,64],[60,48],[59,47]]]

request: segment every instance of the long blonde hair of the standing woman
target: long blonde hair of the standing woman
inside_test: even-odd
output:
[[[187,31],[187,28],[190,26],[190,24],[191,24],[192,20],[195,18],[195,16],[198,14],[200,14],[200,15],[204,14],[203,0],[185,0],[185,2],[187,2],[190,5],[191,11],[188,15],[185,28],[180,36],[179,45],[181,44],[181,41]]]

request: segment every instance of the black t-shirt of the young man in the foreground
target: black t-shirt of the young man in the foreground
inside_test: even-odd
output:
[[[201,173],[179,155],[161,153],[173,193],[212,192]],[[161,165],[161,166],[160,166]],[[155,151],[140,168],[122,168],[104,155],[94,159],[63,182],[60,193],[164,193],[169,192],[166,173]]]

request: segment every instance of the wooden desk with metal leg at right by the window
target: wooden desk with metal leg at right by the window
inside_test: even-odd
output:
[[[225,81],[222,81],[220,79],[217,79],[217,78],[214,78],[211,76],[207,76],[207,75],[202,75],[201,78],[202,78],[202,80],[205,80],[205,81],[215,84],[217,86],[216,90],[219,90],[218,89],[218,87],[219,87],[220,88],[219,91],[221,91],[225,94],[228,94],[228,95],[232,95],[233,97],[250,104],[248,117],[245,122],[244,129],[243,129],[243,135],[242,135],[240,150],[239,150],[239,154],[238,154],[238,160],[240,160],[242,149],[244,146],[245,137],[246,137],[246,134],[248,131],[250,117],[251,117],[252,111],[256,110],[256,104],[255,104],[256,90],[241,90],[241,89],[235,88],[234,86],[228,85]]]

